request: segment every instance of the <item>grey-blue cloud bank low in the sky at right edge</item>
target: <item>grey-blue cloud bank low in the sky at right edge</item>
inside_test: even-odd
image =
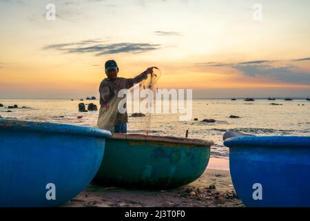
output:
[[[267,77],[285,83],[310,84],[310,73],[300,71],[294,66],[237,65],[233,68],[249,77]]]

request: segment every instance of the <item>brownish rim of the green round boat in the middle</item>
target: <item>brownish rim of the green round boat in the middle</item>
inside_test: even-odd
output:
[[[192,146],[205,146],[210,147],[214,145],[211,140],[199,140],[186,137],[169,137],[157,135],[144,135],[141,133],[113,133],[112,140],[136,140],[136,141],[149,141],[149,142],[165,142],[173,144],[189,144]]]

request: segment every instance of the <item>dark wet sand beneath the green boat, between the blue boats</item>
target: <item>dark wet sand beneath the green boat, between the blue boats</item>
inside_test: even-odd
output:
[[[62,206],[236,207],[243,204],[236,198],[229,171],[207,169],[195,182],[171,190],[145,191],[90,184],[85,191]]]

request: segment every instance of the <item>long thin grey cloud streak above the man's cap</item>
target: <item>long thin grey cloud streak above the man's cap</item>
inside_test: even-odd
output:
[[[43,50],[61,50],[67,53],[94,53],[99,55],[112,55],[118,53],[137,54],[151,50],[157,50],[161,45],[146,43],[116,43],[116,44],[99,44],[99,40],[87,40],[77,43],[52,44],[43,47]]]

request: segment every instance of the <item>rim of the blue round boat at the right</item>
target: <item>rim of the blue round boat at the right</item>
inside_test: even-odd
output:
[[[310,148],[310,136],[232,137],[225,140],[224,145],[229,148],[240,148],[244,146]]]

